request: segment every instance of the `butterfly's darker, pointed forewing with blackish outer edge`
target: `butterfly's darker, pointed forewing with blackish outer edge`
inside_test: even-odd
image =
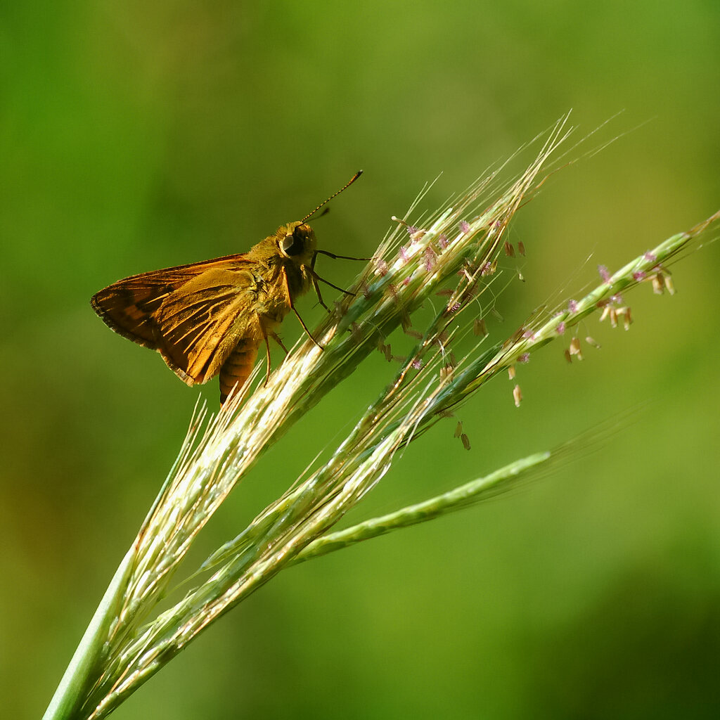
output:
[[[246,255],[226,255],[199,263],[132,275],[94,294],[90,304],[103,322],[116,333],[156,350],[157,324],[153,315],[171,293],[207,271],[240,271],[246,269],[251,262],[253,261]]]

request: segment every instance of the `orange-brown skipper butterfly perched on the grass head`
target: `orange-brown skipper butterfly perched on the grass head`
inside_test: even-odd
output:
[[[233,388],[242,387],[250,377],[261,342],[266,348],[266,378],[269,338],[287,354],[277,329],[288,312],[294,312],[318,344],[295,308],[298,297],[313,287],[327,310],[318,282],[352,294],[315,272],[318,254],[368,258],[318,250],[315,232],[305,220],[361,174],[357,172],[302,220],[281,225],[247,253],[132,275],[94,294],[91,305],[116,333],[158,351],[186,384],[202,384],[219,375],[222,404]]]

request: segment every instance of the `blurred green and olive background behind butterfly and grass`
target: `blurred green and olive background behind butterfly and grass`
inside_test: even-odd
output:
[[[217,383],[190,390],[111,333],[91,294],[245,251],[360,167],[316,230],[331,251],[370,253],[427,180],[444,173],[435,207],[570,108],[577,139],[625,110],[585,149],[627,134],[518,215],[527,282],[500,301],[508,333],[549,294],[578,294],[596,264],[616,269],[720,207],[713,0],[0,12],[6,717],[44,710],[199,393],[216,401]],[[326,263],[351,282],[356,268]],[[472,451],[441,423],[348,519],[652,401],[602,450],[484,508],[283,572],[115,717],[718,716],[718,268],[714,244],[674,266],[675,297],[637,289],[629,333],[590,320],[582,332],[603,348],[582,364],[545,348],[521,370],[519,410],[505,379],[490,384],[460,413]],[[313,305],[302,300],[309,323]],[[266,454],[197,558],[340,438],[390,372],[369,359]]]

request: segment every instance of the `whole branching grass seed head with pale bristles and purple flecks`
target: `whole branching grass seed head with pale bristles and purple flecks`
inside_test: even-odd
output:
[[[510,369],[515,377],[534,352],[552,341],[564,348],[567,359],[580,359],[576,328],[593,313],[629,327],[624,294],[644,283],[655,292],[671,292],[668,262],[719,220],[720,213],[614,273],[601,266],[598,286],[579,300],[539,310],[503,341],[490,345],[485,317],[467,310],[477,308],[476,301],[492,292],[500,275],[498,258],[515,256],[516,248],[505,238],[508,224],[539,189],[549,159],[568,134],[561,120],[539,138],[536,158],[514,181],[499,184],[495,171],[431,215],[414,217],[416,203],[405,217],[395,218],[359,276],[354,297],[343,297],[314,333],[324,349],[310,340],[298,343],[266,385],[252,394],[246,385],[214,418],[205,408],[196,408],[176,464],[46,718],[107,716],[203,629],[284,567],[466,508],[512,486],[554,457],[552,452],[536,454],[426,503],[341,533],[331,531],[387,473],[398,450],[451,416],[489,379]],[[517,251],[524,255],[522,243],[517,243]],[[413,314],[431,299],[436,307],[433,318],[424,328],[413,328]],[[400,359],[392,356],[387,343],[398,328],[412,346]],[[477,345],[458,359],[453,343],[461,334],[474,335]],[[592,343],[588,340],[588,344]],[[197,534],[261,452],[378,349],[399,365],[387,366],[387,387],[357,418],[337,449],[191,572],[184,597],[153,617]],[[519,384],[513,398],[520,405]],[[455,436],[469,449],[462,423],[456,424]]]

